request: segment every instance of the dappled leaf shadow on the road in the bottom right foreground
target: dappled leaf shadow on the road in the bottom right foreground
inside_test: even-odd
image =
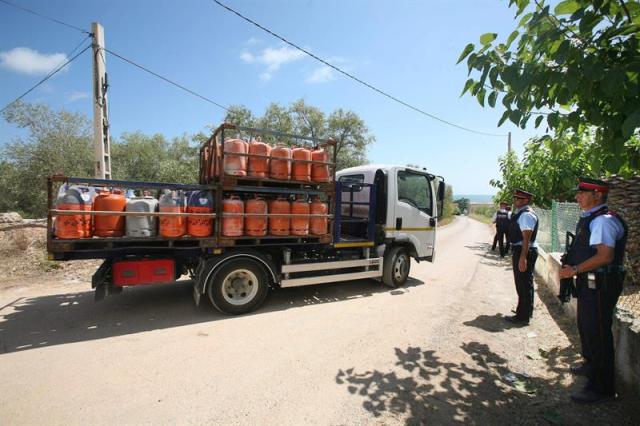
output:
[[[572,389],[561,375],[507,379],[512,374],[507,360],[486,344],[468,342],[461,349],[456,358],[473,362],[445,360],[419,347],[395,348],[387,370],[340,369],[335,380],[373,416],[385,416],[383,423],[633,424],[638,418],[637,405],[629,402],[570,403]]]

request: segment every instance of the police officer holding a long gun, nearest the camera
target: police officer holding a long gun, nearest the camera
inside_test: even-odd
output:
[[[560,278],[576,276],[578,331],[584,362],[573,367],[572,372],[587,376],[584,389],[571,395],[571,399],[592,403],[615,396],[611,324],[624,281],[627,226],[608,209],[609,186],[605,182],[580,178],[576,189],[582,214]],[[589,280],[589,273],[594,274],[595,282]]]

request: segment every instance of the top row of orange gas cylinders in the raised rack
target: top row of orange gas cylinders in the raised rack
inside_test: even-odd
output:
[[[320,147],[272,147],[259,140],[226,139],[222,169],[230,176],[324,183],[331,181],[328,161],[327,151]]]

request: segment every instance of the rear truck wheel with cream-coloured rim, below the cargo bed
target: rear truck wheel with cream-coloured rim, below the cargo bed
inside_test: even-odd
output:
[[[217,310],[240,315],[264,302],[269,291],[269,276],[257,261],[239,258],[220,266],[206,285],[209,300]]]

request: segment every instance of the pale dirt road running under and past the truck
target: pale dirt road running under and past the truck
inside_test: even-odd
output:
[[[3,424],[638,424],[638,399],[569,402],[574,326],[538,289],[529,327],[487,225],[438,231],[435,264],[275,291],[256,313],[196,308],[188,285],[95,304],[88,283],[0,293]],[[551,312],[551,313],[550,313]]]

